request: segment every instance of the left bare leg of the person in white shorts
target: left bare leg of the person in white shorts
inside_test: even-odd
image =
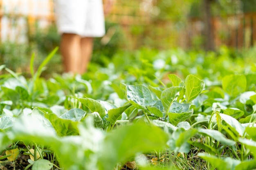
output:
[[[61,36],[61,55],[65,72],[80,73],[81,37],[76,34],[63,33]]]

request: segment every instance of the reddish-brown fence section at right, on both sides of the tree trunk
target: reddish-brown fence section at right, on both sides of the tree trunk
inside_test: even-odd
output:
[[[232,48],[249,48],[256,43],[256,13],[216,16],[212,20],[214,44]],[[193,46],[193,38],[203,35],[203,22],[198,18],[189,20],[188,46]]]

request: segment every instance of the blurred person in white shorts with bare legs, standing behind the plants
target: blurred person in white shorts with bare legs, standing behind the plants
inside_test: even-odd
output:
[[[93,37],[105,34],[102,0],[55,0],[55,4],[64,71],[83,74],[91,59]]]

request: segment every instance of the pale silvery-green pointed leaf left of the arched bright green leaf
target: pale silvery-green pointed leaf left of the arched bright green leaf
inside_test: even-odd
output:
[[[69,119],[72,121],[81,121],[85,117],[86,112],[81,108],[72,108],[60,116],[61,119]]]

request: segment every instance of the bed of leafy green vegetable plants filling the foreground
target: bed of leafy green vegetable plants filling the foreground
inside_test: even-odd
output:
[[[31,78],[0,66],[0,169],[256,168],[255,57],[141,49],[40,77],[55,51]]]

